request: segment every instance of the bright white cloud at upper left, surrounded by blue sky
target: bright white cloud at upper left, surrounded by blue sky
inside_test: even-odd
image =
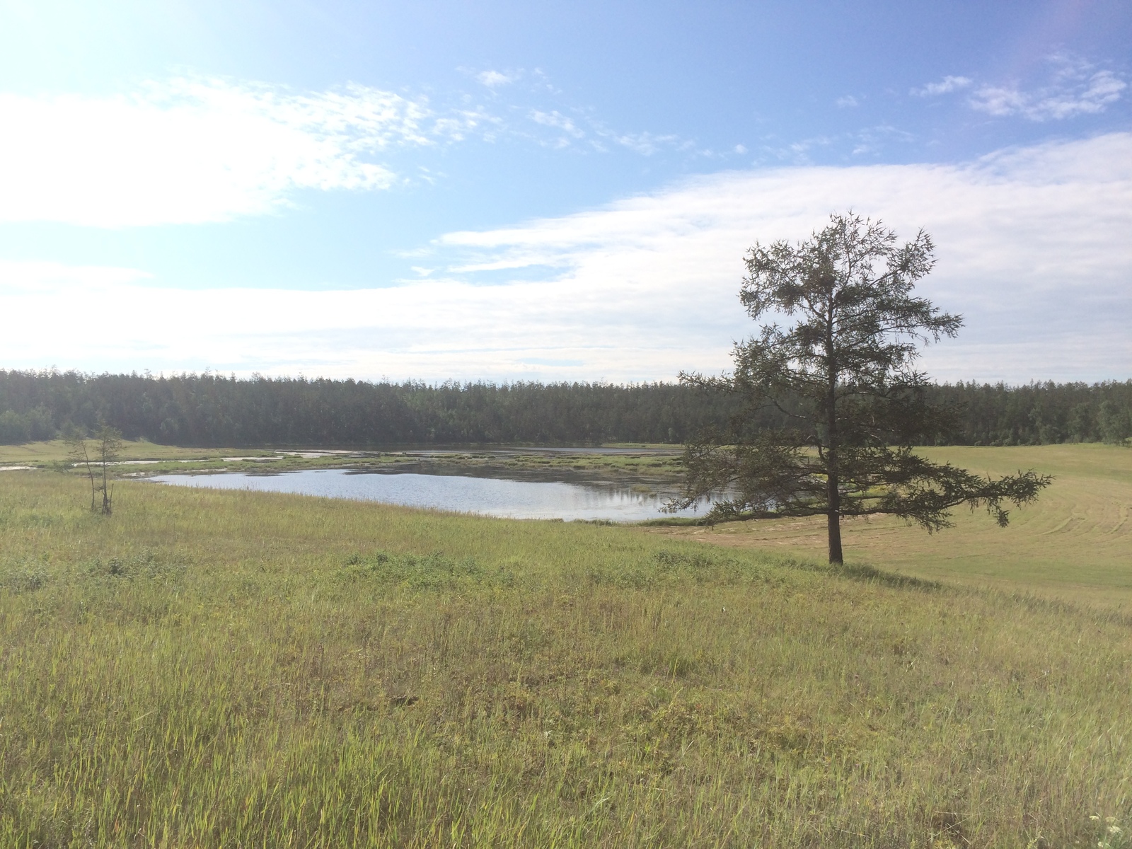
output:
[[[0,221],[128,226],[271,212],[295,189],[384,189],[375,161],[452,136],[424,101],[350,85],[295,94],[217,79],[103,98],[0,94]]]

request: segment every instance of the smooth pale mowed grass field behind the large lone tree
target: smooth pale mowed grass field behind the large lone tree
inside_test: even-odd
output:
[[[875,517],[842,524],[846,558],[909,575],[1044,591],[1072,600],[1132,603],[1132,451],[1088,445],[923,448],[936,462],[978,473],[1034,469],[1054,482],[998,528],[984,511],[958,508],[954,528],[928,534]],[[650,533],[821,558],[825,520],[774,520]]]

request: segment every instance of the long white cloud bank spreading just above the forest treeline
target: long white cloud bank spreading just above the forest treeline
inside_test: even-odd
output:
[[[0,366],[424,379],[715,371],[754,329],[737,299],[751,243],[805,237],[850,206],[903,238],[924,226],[938,245],[920,289],[967,327],[928,349],[933,376],[1132,375],[1130,134],[959,165],[697,178],[577,215],[449,233],[419,259],[436,268],[427,280],[385,289],[183,291],[128,269],[0,266],[5,315],[52,316],[9,323]],[[488,285],[475,271],[497,268],[525,280]],[[91,332],[108,325],[114,333]]]

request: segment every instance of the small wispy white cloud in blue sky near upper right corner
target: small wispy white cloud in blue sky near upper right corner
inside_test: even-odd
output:
[[[1127,84],[1108,70],[1069,55],[1050,59],[1052,78],[1047,85],[1022,91],[1019,86],[981,86],[969,104],[990,115],[1021,115],[1031,121],[1064,120],[1096,114],[1115,103]]]

